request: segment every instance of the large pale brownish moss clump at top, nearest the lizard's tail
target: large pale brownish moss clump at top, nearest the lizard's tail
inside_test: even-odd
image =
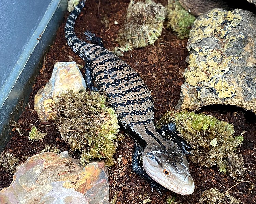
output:
[[[120,50],[126,52],[134,48],[152,45],[161,35],[165,21],[165,7],[152,0],[145,3],[131,0],[126,13],[125,24],[118,34]]]

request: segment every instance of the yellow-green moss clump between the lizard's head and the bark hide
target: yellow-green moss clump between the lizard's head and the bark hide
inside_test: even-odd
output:
[[[236,147],[244,140],[243,133],[233,136],[235,131],[232,124],[204,114],[168,111],[157,126],[169,122],[176,124],[181,137],[193,148],[193,154],[189,156],[192,162],[205,167],[217,164],[221,173],[227,172],[228,155],[236,154]],[[237,161],[233,158],[233,162]],[[242,173],[242,164],[240,168]]]

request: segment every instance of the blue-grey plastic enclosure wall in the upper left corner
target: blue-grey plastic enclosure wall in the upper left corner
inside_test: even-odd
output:
[[[67,0],[0,0],[0,152],[66,8]]]

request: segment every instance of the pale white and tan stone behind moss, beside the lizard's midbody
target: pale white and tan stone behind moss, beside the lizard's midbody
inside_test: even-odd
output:
[[[68,89],[73,89],[75,92],[84,91],[85,80],[76,62],[57,62],[54,65],[51,79],[35,95],[34,109],[41,122],[56,118],[56,112],[52,109],[54,98]]]

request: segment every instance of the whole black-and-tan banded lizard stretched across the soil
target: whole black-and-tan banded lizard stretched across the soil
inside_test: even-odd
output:
[[[139,74],[103,48],[101,38],[90,32],[85,34],[94,44],[77,38],[74,24],[85,1],[81,1],[68,17],[65,37],[73,51],[86,61],[85,78],[88,87],[97,90],[92,85],[94,80],[97,87],[106,92],[120,123],[135,140],[133,171],[159,193],[160,189],[165,188],[183,195],[193,193],[194,183],[186,156],[176,143],[164,139],[155,129],[153,99]]]

